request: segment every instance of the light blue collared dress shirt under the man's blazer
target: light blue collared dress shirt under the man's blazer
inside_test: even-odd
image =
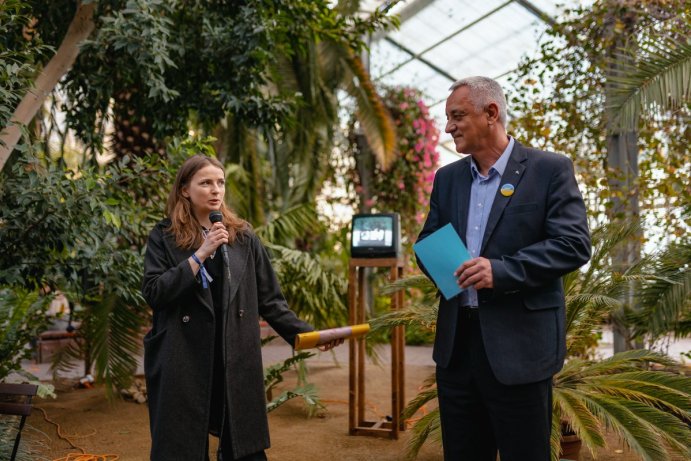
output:
[[[487,219],[497,195],[497,189],[501,183],[501,177],[509,162],[513,150],[514,139],[509,136],[509,145],[506,146],[501,157],[492,165],[487,176],[480,174],[475,160],[470,159],[470,173],[473,175],[473,183],[470,186],[470,204],[468,207],[468,227],[465,231],[466,246],[471,258],[480,256],[482,237],[485,235]],[[461,306],[478,306],[477,290],[469,287],[460,294]]]

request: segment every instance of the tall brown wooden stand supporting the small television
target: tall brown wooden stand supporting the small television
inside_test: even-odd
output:
[[[389,267],[390,281],[403,275],[403,260],[399,258],[355,258],[350,260],[348,271],[348,318],[351,325],[365,323],[365,268]],[[403,292],[391,295],[391,309],[403,307]],[[365,415],[365,338],[351,338],[349,418],[350,435],[369,435],[398,439],[399,431],[405,430],[401,412],[405,402],[405,329],[397,326],[391,334],[391,421],[368,421]]]

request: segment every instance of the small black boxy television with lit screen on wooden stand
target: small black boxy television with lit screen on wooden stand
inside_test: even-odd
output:
[[[351,235],[352,258],[396,258],[400,253],[398,213],[356,214]]]

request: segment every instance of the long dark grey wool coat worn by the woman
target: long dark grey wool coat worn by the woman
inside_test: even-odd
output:
[[[221,321],[233,457],[266,449],[259,317],[291,345],[295,335],[313,328],[288,308],[269,256],[252,232],[229,247],[225,319],[215,318],[211,292],[187,261],[193,250],[175,244],[169,225],[165,219],[151,231],[144,260],[142,293],[153,309],[144,338],[151,459],[206,461],[215,325]]]

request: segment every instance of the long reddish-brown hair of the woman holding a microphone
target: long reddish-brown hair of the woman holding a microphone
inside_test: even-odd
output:
[[[168,194],[168,203],[166,205],[166,213],[170,218],[171,225],[168,229],[175,236],[175,243],[180,248],[190,249],[198,248],[202,244],[201,223],[197,221],[192,213],[192,203],[190,199],[182,195],[183,187],[187,186],[192,180],[192,177],[207,165],[213,165],[223,171],[221,162],[213,157],[206,155],[193,155],[185,160],[178,170],[175,177],[175,184]],[[232,244],[235,239],[241,237],[243,233],[249,230],[249,224],[244,219],[238,217],[225,204],[221,202],[219,210],[223,214],[223,224],[228,229],[228,243]]]

